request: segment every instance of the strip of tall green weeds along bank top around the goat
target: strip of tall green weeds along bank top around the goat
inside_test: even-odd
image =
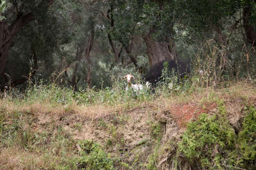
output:
[[[157,83],[155,92],[151,89],[143,89],[140,92],[135,92],[132,88],[128,91],[125,90],[126,82],[121,79],[114,79],[112,86],[95,89],[79,88],[74,91],[72,87],[65,85],[59,86],[56,83],[44,84],[42,81],[35,83],[29,81],[28,87],[25,91],[21,92],[21,89],[10,89],[7,92],[1,94],[2,102],[12,102],[16,105],[32,105],[34,103],[46,103],[51,107],[58,105],[85,105],[85,106],[97,106],[97,105],[108,105],[108,106],[119,106],[124,107],[130,105],[138,105],[142,102],[149,102],[159,95],[162,96],[173,96],[173,95],[185,95],[194,89],[195,84],[185,76],[179,79],[176,72],[170,72],[168,70],[168,63],[164,63],[164,70],[162,76]],[[140,75],[138,75],[140,77]],[[143,80],[138,78],[137,82],[142,83]]]

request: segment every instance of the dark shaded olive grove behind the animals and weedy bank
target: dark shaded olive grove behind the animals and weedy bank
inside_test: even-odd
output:
[[[104,88],[161,61],[204,85],[256,73],[255,0],[6,0],[0,87]]]

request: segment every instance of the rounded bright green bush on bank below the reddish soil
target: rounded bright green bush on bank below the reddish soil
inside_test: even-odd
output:
[[[206,169],[221,169],[234,147],[235,132],[226,118],[206,114],[200,115],[196,122],[188,123],[179,144],[180,152],[191,164],[197,163]]]

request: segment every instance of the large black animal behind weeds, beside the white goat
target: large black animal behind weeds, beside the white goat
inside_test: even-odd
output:
[[[159,63],[154,64],[150,70],[148,71],[148,74],[145,76],[145,81],[150,82],[153,86],[156,85],[157,82],[160,81],[160,77],[162,75],[162,70],[164,69],[164,62],[161,61]],[[169,63],[169,70],[172,72],[172,69],[175,70],[175,72],[179,73],[179,78],[184,78],[185,75],[188,75],[190,73],[189,64],[182,62],[182,61],[167,61]]]

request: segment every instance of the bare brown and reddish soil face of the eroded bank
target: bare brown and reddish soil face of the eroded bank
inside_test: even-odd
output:
[[[239,131],[244,116],[244,107],[247,100],[243,98],[225,99],[228,120],[235,131]],[[250,98],[251,104],[256,104],[255,98]],[[202,113],[218,113],[215,102],[180,103],[166,107],[156,108],[151,104],[142,104],[140,107],[126,109],[125,112],[107,110],[101,114],[76,114],[63,112],[53,115],[51,112],[37,114],[31,127],[35,131],[42,131],[51,122],[57,122],[68,131],[74,139],[90,139],[105,146],[105,150],[113,156],[119,156],[125,162],[132,163],[135,159],[147,163],[157,140],[150,132],[153,122],[161,124],[163,136],[160,141],[161,151],[158,162],[159,169],[170,168],[172,163],[170,153],[175,148],[170,147],[170,141],[179,141],[186,130],[186,124],[197,119]],[[185,165],[184,165],[185,166]]]

